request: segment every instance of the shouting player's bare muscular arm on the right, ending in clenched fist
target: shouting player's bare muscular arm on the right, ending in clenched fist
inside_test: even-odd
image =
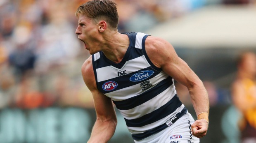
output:
[[[147,55],[156,67],[160,67],[166,74],[188,88],[196,114],[202,112],[209,114],[209,97],[202,81],[187,63],[178,57],[173,46],[163,39],[149,36],[145,47]],[[197,120],[193,127],[195,128],[193,134],[201,138],[206,135],[208,123],[204,119]]]

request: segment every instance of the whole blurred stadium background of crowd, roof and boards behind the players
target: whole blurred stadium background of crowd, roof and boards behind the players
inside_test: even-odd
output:
[[[95,121],[81,77],[89,53],[75,34],[87,0],[0,0],[0,143],[84,143]],[[173,44],[204,82],[210,125],[202,143],[239,143],[230,99],[235,60],[256,51],[255,0],[115,0],[119,32],[145,32]],[[175,83],[195,117],[188,92]],[[133,140],[119,124],[109,143]]]

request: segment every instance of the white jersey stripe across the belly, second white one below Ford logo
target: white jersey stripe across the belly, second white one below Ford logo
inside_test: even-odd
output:
[[[171,98],[174,97],[174,95],[175,94],[172,90],[172,87],[169,87],[166,90],[164,90],[163,92],[161,92],[160,95],[157,95],[153,99],[150,99],[149,101],[147,101],[137,107],[134,107],[130,110],[119,110],[119,111],[122,113],[123,117],[128,120],[140,118],[143,115],[151,113],[152,111],[155,111],[156,109],[165,105],[168,101],[171,100]],[[144,112],[142,112],[142,111],[144,111]]]

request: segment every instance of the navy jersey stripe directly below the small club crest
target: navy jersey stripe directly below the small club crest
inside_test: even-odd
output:
[[[137,95],[126,100],[113,102],[114,104],[116,104],[116,108],[118,108],[119,110],[132,109],[156,97],[158,94],[169,88],[172,84],[172,78],[169,76],[168,78],[164,79],[156,86],[154,86],[154,88],[151,88],[146,92],[143,92],[141,95]]]

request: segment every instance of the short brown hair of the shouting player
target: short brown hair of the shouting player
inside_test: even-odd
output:
[[[116,3],[110,0],[92,0],[80,5],[75,15],[82,14],[92,18],[97,23],[100,20],[106,21],[113,29],[117,29],[119,16],[116,9]]]

